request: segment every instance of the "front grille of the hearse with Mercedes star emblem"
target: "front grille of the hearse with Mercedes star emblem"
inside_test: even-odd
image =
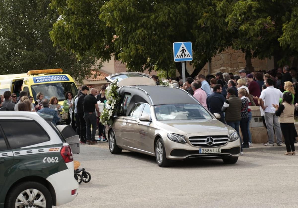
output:
[[[212,145],[208,145],[206,140],[207,138],[211,138],[213,140]],[[222,146],[225,145],[229,140],[228,136],[225,135],[219,135],[219,136],[191,136],[189,138],[189,141],[194,146],[201,146],[201,147],[214,147],[214,146]],[[210,142],[209,142],[210,143]]]

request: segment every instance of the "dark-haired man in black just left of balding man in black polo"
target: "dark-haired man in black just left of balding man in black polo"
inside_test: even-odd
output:
[[[83,108],[83,99],[86,97],[86,94],[88,93],[89,88],[87,86],[82,86],[82,91],[77,95],[78,101],[77,101],[77,115],[80,120],[80,136],[81,136],[81,143],[86,144],[86,122],[84,119],[84,108]]]

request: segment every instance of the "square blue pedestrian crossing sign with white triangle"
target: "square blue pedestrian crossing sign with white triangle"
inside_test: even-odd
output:
[[[193,60],[193,48],[191,42],[174,42],[173,52],[175,62],[186,62]]]

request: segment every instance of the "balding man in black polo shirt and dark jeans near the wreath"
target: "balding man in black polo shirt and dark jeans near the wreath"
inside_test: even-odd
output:
[[[95,114],[95,109],[97,115],[100,115],[99,108],[97,105],[97,99],[95,98],[96,89],[92,88],[90,94],[84,97],[83,107],[84,107],[84,119],[86,121],[86,137],[87,144],[96,144],[95,133],[97,129],[97,116]],[[92,125],[92,134],[91,134],[91,125]]]

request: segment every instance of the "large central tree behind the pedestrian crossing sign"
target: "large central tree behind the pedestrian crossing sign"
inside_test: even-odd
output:
[[[51,7],[61,15],[51,31],[56,45],[101,60],[115,54],[133,71],[169,69],[173,42],[191,41],[195,76],[232,41],[212,0],[52,0]]]

